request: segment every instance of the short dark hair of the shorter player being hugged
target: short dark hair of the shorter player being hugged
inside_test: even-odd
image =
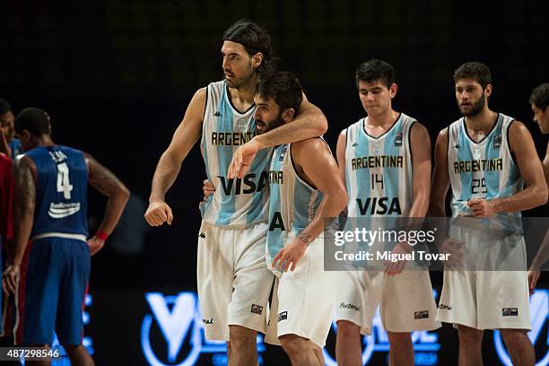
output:
[[[281,112],[292,108],[297,114],[303,101],[303,89],[299,79],[284,71],[267,74],[257,84],[256,94],[263,100],[274,100]]]

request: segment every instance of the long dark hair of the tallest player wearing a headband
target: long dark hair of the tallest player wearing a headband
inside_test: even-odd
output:
[[[257,74],[260,77],[274,72],[277,58],[274,57],[271,36],[255,22],[250,21],[248,18],[240,19],[225,30],[223,40],[240,43],[250,56],[261,52],[263,61],[257,67]]]

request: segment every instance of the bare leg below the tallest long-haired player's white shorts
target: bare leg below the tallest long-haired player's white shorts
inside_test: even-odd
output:
[[[257,332],[240,326],[229,326],[231,357],[229,366],[257,365]]]

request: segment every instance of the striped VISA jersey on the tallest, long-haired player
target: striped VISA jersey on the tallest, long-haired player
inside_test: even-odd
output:
[[[256,106],[243,113],[235,109],[225,81],[210,83],[206,91],[200,148],[207,178],[216,190],[201,207],[203,220],[219,226],[240,227],[266,222],[267,170],[273,149],[260,150],[243,179],[227,179],[232,153],[257,135],[253,118]]]

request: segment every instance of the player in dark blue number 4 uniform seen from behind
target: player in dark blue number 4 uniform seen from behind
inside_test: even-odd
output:
[[[22,302],[21,344],[47,347],[55,330],[72,364],[92,365],[82,345],[90,256],[114,230],[129,192],[88,153],[55,144],[43,110],[23,109],[15,131],[25,154],[14,161],[15,248],[2,284],[4,292]],[[89,240],[88,182],[109,197],[99,231]],[[19,283],[28,246],[26,281]]]

